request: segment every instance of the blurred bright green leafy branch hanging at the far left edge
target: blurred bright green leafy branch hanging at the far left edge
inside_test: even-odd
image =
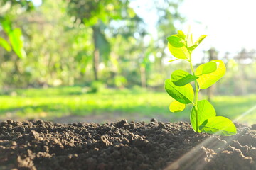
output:
[[[12,60],[14,63],[14,74],[18,73],[18,61],[26,57],[26,52],[23,49],[23,35],[20,28],[15,25],[15,19],[18,14],[26,13],[27,11],[33,10],[34,6],[31,1],[25,0],[3,0],[0,1],[0,46],[8,52],[6,59],[1,60]],[[8,58],[8,59],[7,59]],[[12,76],[13,79],[15,76]],[[15,78],[14,78],[15,79]],[[19,79],[19,78],[18,78]]]

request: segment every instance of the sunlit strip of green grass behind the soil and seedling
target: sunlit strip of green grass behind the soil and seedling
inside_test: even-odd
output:
[[[68,115],[123,115],[127,118],[150,117],[167,121],[189,120],[191,106],[181,113],[170,113],[171,97],[163,92],[143,90],[105,90],[87,94],[80,86],[17,89],[0,96],[0,118],[53,118]],[[256,95],[216,96],[213,106],[218,115],[235,119],[252,106]],[[256,111],[241,119],[243,123],[255,123]]]

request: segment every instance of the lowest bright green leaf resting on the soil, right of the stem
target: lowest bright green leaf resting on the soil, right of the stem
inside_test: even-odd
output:
[[[199,130],[223,136],[235,135],[237,133],[234,123],[223,116],[208,118],[199,126]]]

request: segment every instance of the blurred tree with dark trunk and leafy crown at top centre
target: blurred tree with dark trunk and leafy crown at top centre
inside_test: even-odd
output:
[[[75,22],[83,23],[92,28],[93,71],[95,80],[98,80],[99,62],[100,60],[106,61],[111,51],[110,43],[105,35],[110,21],[128,20],[137,16],[129,7],[129,0],[69,0],[68,2],[68,12],[70,16],[75,16]]]

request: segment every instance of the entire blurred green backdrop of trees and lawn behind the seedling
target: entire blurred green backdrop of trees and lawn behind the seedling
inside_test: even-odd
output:
[[[143,7],[137,1],[1,0],[0,120],[189,121],[191,106],[169,112],[173,99],[164,91],[171,72],[189,69],[186,62],[167,62],[173,57],[166,37],[186,22],[182,3],[150,1],[154,32],[135,10]],[[227,67],[200,98],[208,98],[217,115],[255,123],[255,50],[198,50],[195,67],[214,59]]]

